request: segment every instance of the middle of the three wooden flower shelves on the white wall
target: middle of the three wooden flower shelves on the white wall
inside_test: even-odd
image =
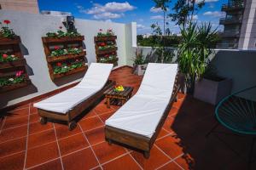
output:
[[[77,72],[86,71],[83,41],[79,37],[42,37],[49,75],[54,81]]]

